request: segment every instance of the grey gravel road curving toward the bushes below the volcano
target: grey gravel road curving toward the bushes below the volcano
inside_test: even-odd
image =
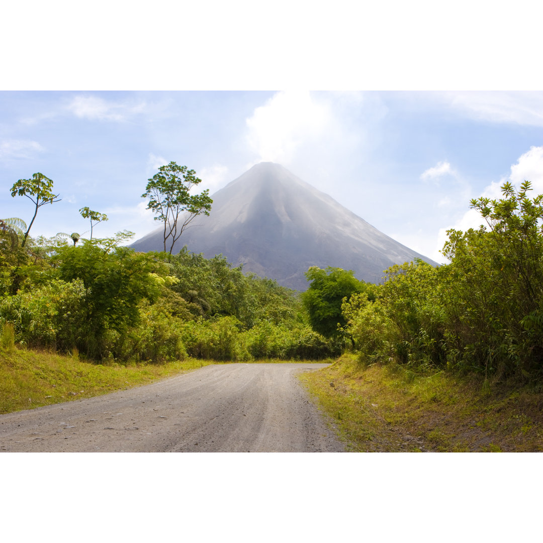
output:
[[[144,387],[0,415],[8,452],[343,452],[295,374],[210,365]]]

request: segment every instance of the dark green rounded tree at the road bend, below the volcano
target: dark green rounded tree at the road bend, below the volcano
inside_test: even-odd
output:
[[[312,266],[305,273],[310,287],[301,295],[312,329],[325,337],[335,337],[346,320],[342,314],[342,301],[353,293],[366,290],[352,270],[327,267],[325,270]]]

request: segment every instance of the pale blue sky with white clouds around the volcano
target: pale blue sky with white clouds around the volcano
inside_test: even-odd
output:
[[[89,206],[109,217],[96,236],[137,239],[158,225],[141,194],[159,166],[193,168],[213,193],[262,160],[443,261],[445,230],[481,222],[471,198],[504,180],[543,192],[543,92],[0,92],[2,216],[29,222],[9,188],[35,172],[62,198],[34,236],[84,234]]]

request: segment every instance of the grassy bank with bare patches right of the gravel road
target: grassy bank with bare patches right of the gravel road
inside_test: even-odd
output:
[[[479,376],[362,367],[344,355],[300,375],[352,452],[543,451],[541,387]]]

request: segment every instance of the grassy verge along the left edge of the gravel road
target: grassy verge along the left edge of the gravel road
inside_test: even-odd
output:
[[[50,352],[0,351],[0,413],[108,394],[216,363],[187,358],[163,364],[97,364]]]

